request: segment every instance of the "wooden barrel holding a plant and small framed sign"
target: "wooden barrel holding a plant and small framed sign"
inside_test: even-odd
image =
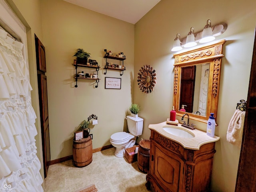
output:
[[[92,163],[91,137],[73,141],[73,161],[76,167],[85,167]]]

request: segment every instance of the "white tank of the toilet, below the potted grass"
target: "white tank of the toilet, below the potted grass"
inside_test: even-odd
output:
[[[143,129],[143,119],[142,118],[134,118],[132,116],[127,116],[127,126],[128,131],[132,133],[134,136],[142,135]]]

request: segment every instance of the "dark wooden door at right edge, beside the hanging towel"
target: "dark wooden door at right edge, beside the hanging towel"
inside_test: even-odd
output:
[[[255,29],[256,30],[256,29]],[[244,132],[236,178],[236,192],[256,191],[256,38],[244,120]]]

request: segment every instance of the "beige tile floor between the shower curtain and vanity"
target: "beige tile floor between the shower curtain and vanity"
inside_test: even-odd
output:
[[[125,157],[115,157],[114,151],[93,153],[92,163],[83,168],[74,167],[72,160],[51,165],[45,192],[74,192],[90,184],[95,184],[98,192],[149,192],[138,162],[129,164]]]

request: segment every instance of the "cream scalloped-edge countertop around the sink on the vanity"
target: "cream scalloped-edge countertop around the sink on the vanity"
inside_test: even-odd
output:
[[[172,134],[164,131],[163,126],[179,127],[180,129],[186,130],[186,131],[194,134],[195,137],[185,138],[185,137],[178,137],[178,136],[172,135]],[[156,131],[160,135],[162,135],[172,141],[179,143],[185,149],[199,150],[199,148],[206,143],[212,143],[212,142],[216,142],[216,141],[220,140],[220,137],[218,137],[216,135],[214,137],[210,137],[210,136],[206,135],[206,132],[204,132],[204,131],[200,131],[198,129],[189,129],[189,128],[181,126],[180,123],[178,125],[168,125],[168,124],[166,124],[166,121],[164,121],[164,122],[158,123],[158,124],[150,124],[150,125],[148,125],[148,128]]]

